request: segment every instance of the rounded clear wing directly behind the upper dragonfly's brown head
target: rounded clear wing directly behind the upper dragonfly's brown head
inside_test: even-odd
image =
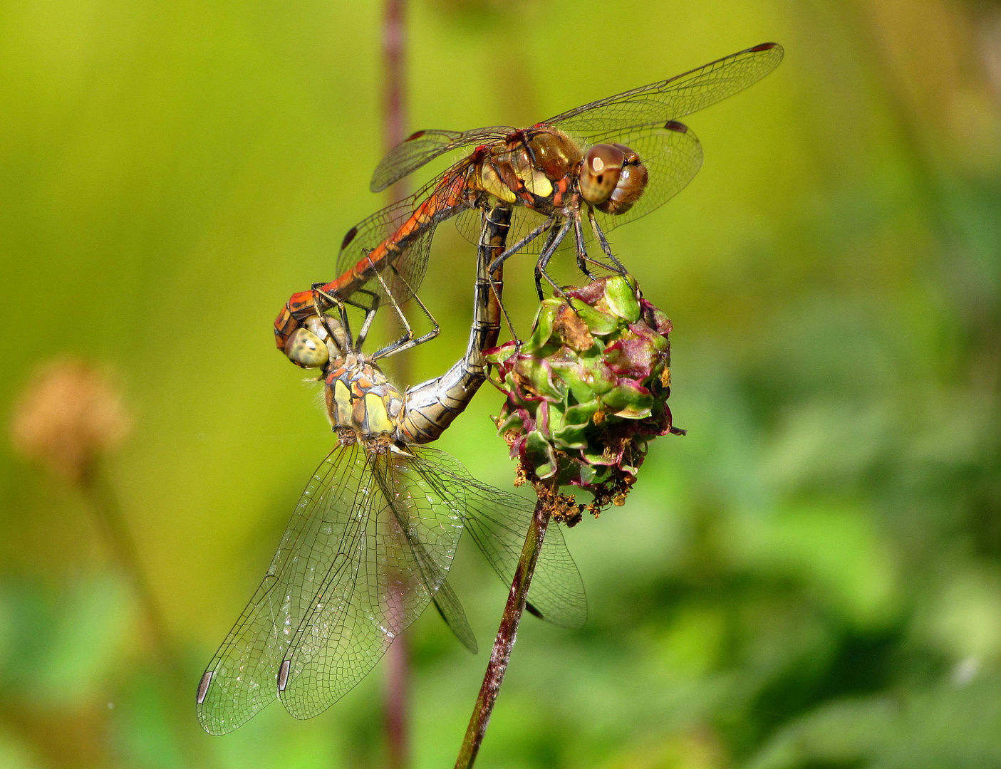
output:
[[[611,140],[612,137],[598,136],[595,143]],[[670,128],[635,128],[618,134],[615,140],[636,150],[650,176],[643,197],[626,213],[611,215],[595,211],[606,232],[664,205],[685,189],[702,167],[702,143],[695,132],[682,123],[674,122]]]

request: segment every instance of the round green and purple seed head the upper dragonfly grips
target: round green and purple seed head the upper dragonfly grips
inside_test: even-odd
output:
[[[623,276],[567,289],[542,303],[528,341],[486,353],[512,456],[530,480],[590,491],[592,512],[622,504],[651,438],[684,434],[668,408],[671,321],[637,294]]]

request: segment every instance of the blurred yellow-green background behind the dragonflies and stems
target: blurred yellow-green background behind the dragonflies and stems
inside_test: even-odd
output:
[[[193,703],[332,444],[270,324],[384,204],[379,5],[0,2],[0,409],[62,354],[114,372],[107,473],[180,660],[79,490],[0,442],[4,769],[384,764],[381,666],[307,722],[213,738]],[[413,0],[409,35],[411,128],[787,50],[687,119],[702,172],[614,233],[674,320],[689,435],[567,532],[589,624],[526,619],[478,766],[1001,767],[1001,5]],[[411,381],[464,347],[472,266],[442,227]],[[508,487],[498,408],[438,445]],[[505,588],[468,542],[453,575],[488,648]],[[434,612],[410,640],[414,766],[450,766],[486,658]]]

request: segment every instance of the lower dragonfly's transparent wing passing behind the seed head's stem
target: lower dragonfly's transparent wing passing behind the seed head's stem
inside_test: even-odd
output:
[[[437,449],[411,447],[421,465],[434,475],[461,484],[465,492],[465,530],[497,576],[511,585],[532,523],[534,505],[524,497],[473,478],[458,462]],[[563,531],[551,525],[532,578],[529,601],[549,622],[579,628],[588,619],[584,581],[567,549]]]

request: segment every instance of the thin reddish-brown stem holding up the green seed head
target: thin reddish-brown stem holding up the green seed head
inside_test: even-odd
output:
[[[455,759],[455,769],[469,769],[472,766],[476,760],[476,754],[479,752],[479,745],[483,741],[483,735],[486,734],[490,713],[493,711],[493,704],[500,691],[504,675],[508,671],[508,661],[511,659],[511,652],[515,647],[518,626],[522,621],[522,612],[525,611],[526,596],[529,594],[532,574],[535,572],[536,563],[539,560],[539,551],[546,538],[546,529],[549,526],[550,514],[553,509],[552,500],[556,493],[556,488],[552,489],[549,494],[542,493],[536,502],[532,524],[525,536],[522,557],[518,561],[515,579],[512,580],[511,592],[508,594],[508,603],[504,609],[504,616],[500,618],[500,627],[497,628],[496,638],[493,640],[490,661],[486,665],[486,673],[483,676],[483,683],[479,687],[476,704],[472,708],[469,725],[465,728],[462,747],[458,751],[458,758]]]

